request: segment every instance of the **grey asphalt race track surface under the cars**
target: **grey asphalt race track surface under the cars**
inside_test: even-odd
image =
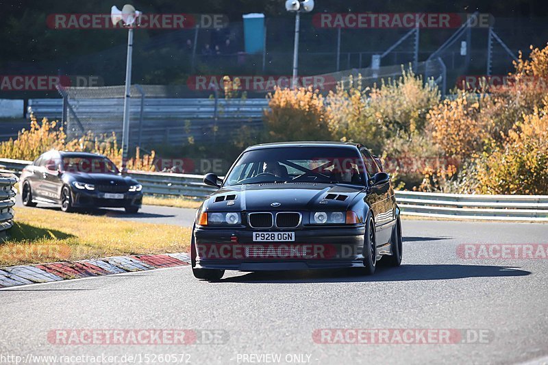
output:
[[[188,225],[193,215],[164,207],[142,212],[123,218]],[[208,282],[184,266],[0,290],[0,362],[9,362],[2,358],[7,355],[27,363],[60,361],[38,355],[73,356],[65,360],[79,363],[86,359],[77,355],[177,364],[548,361],[548,260],[466,260],[457,254],[460,244],[548,243],[548,225],[403,221],[403,235],[402,266],[377,268],[373,276],[346,270],[227,272]],[[197,332],[197,342],[206,342],[201,344],[51,343],[48,333],[57,329],[208,331]],[[466,333],[472,343],[402,344],[390,337],[389,344],[329,344],[322,343],[329,336],[313,336],[325,333],[320,329],[446,329]],[[212,333],[222,334],[216,343],[208,340]],[[188,355],[165,357],[175,354]]]

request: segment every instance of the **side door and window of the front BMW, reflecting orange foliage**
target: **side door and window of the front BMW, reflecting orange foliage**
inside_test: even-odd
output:
[[[392,233],[392,227],[395,223],[394,204],[391,197],[391,195],[393,195],[393,189],[390,182],[371,186],[369,180],[371,180],[376,173],[381,172],[381,169],[367,149],[360,149],[360,153],[364,160],[370,190],[367,199],[369,199],[371,210],[373,210],[373,218],[375,219],[377,246],[381,246],[390,241],[390,234]]]

